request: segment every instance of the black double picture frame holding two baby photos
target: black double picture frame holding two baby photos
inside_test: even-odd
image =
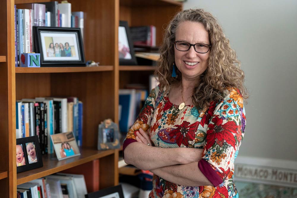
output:
[[[43,167],[38,136],[16,139],[17,173]]]

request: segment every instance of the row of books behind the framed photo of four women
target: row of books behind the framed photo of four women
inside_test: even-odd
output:
[[[71,3],[58,1],[15,5],[15,66],[22,53],[35,52],[33,26],[80,28],[83,37],[83,12],[71,12]]]

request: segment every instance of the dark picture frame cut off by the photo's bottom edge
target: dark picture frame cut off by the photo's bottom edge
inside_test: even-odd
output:
[[[85,195],[85,198],[124,198],[121,185],[109,187]]]

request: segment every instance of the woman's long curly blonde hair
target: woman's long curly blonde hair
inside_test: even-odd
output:
[[[160,47],[160,61],[155,75],[160,82],[160,89],[169,91],[170,85],[181,82],[181,72],[177,69],[176,77],[172,77],[174,63],[174,42],[178,25],[185,21],[199,22],[208,31],[210,54],[208,67],[197,79],[193,90],[192,101],[196,107],[206,109],[210,102],[224,99],[231,89],[238,89],[244,99],[248,98],[244,86],[244,72],[240,69],[236,52],[230,47],[229,39],[214,16],[203,9],[187,9],[179,12],[170,21],[163,35]]]

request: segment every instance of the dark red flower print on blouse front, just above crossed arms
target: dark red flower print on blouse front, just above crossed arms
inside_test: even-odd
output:
[[[189,147],[189,141],[193,141],[195,139],[195,129],[199,122],[195,122],[190,124],[187,121],[184,121],[181,125],[175,125],[177,128],[173,129],[169,135],[173,137],[176,135],[176,143],[180,147],[181,144]]]

